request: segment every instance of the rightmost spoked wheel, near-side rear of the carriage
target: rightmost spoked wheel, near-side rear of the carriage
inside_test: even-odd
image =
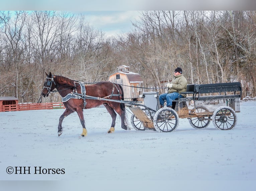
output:
[[[236,126],[237,114],[229,106],[221,106],[213,113],[213,125],[218,130],[230,130]]]

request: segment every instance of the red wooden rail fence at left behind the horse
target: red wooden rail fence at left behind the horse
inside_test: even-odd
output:
[[[25,111],[38,109],[63,109],[65,106],[62,102],[57,103],[24,103],[14,105],[1,105],[1,111]]]

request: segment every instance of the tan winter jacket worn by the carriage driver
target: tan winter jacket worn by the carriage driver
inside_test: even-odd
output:
[[[173,93],[173,92],[186,92],[187,90],[187,80],[185,77],[180,74],[177,76],[174,76],[174,80],[171,82],[172,87],[168,89],[168,94]],[[183,97],[186,97],[185,94],[181,94]]]

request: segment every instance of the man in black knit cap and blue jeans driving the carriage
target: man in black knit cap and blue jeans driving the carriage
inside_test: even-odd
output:
[[[172,100],[178,97],[186,97],[185,94],[180,94],[180,92],[186,92],[187,80],[182,75],[182,69],[180,67],[174,70],[174,80],[166,85],[168,88],[168,93],[159,95],[160,108],[163,107],[164,101],[166,100],[166,106],[171,107]],[[173,108],[174,109],[174,108]]]

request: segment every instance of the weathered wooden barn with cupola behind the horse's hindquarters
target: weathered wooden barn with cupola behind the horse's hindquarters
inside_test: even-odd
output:
[[[143,81],[139,74],[130,72],[129,68],[125,65],[119,66],[117,72],[109,76],[108,81],[124,85],[124,98],[136,100],[142,94],[139,87],[142,87]]]

